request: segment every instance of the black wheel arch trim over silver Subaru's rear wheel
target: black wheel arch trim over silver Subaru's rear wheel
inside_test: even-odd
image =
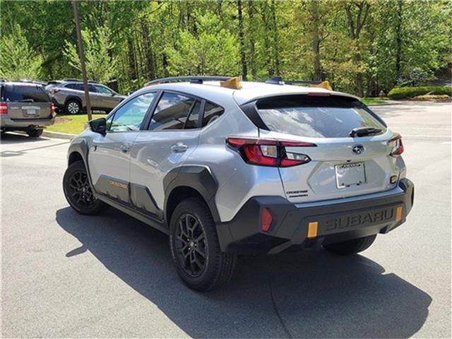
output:
[[[190,187],[195,189],[206,201],[210,213],[212,213],[213,220],[220,222],[220,215],[218,214],[217,206],[215,205],[215,194],[218,191],[218,182],[213,176],[210,169],[206,166],[198,165],[182,165],[169,171],[163,179],[163,188],[165,191],[165,221],[169,225],[169,220],[166,220],[166,212],[169,196],[174,189],[178,187]]]

